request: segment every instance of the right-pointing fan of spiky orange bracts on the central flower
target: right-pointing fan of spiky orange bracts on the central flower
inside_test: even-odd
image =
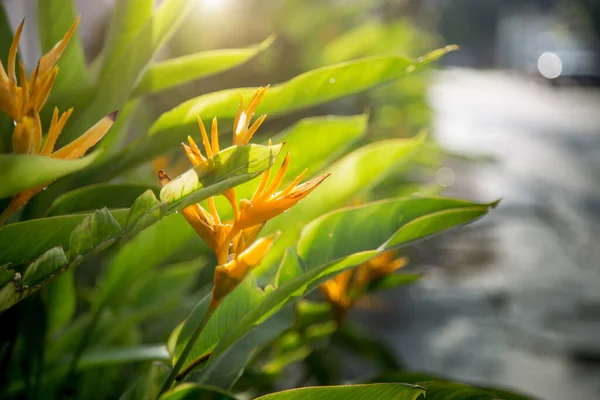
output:
[[[315,190],[330,175],[325,174],[298,185],[306,173],[306,170],[304,170],[285,189],[276,192],[285,178],[285,173],[289,165],[290,154],[288,153],[271,184],[268,184],[270,176],[270,169],[268,169],[263,173],[262,179],[252,198],[250,200],[244,199],[240,202],[240,215],[236,223],[241,229],[261,224],[290,209],[308,196],[310,192]]]

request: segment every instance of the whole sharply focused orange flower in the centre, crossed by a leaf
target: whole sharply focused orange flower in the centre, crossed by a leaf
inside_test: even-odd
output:
[[[254,111],[267,89],[268,87],[259,88],[250,99],[247,108],[244,108],[243,97],[240,99],[233,123],[232,144],[234,146],[247,144],[265,120],[266,116],[262,115],[250,126]],[[206,156],[202,154],[191,136],[188,136],[188,144],[182,143],[185,154],[194,166],[203,165],[220,151],[217,119],[212,120],[210,139],[200,117],[198,117],[198,127]],[[276,236],[271,235],[258,240],[256,238],[267,220],[298,203],[328,176],[324,175],[298,185],[306,172],[304,171],[284,190],[275,193],[283,182],[289,162],[288,154],[270,185],[267,185],[270,172],[269,170],[265,171],[252,198],[250,200],[242,199],[240,207],[238,207],[234,188],[223,192],[223,196],[227,198],[233,209],[233,221],[221,221],[212,197],[207,200],[208,211],[200,204],[194,204],[182,210],[181,213],[188,223],[217,256],[218,267],[215,270],[215,286],[213,288],[214,301],[219,302],[235,289],[266,255]],[[162,170],[158,171],[158,177],[163,185],[170,180]]]

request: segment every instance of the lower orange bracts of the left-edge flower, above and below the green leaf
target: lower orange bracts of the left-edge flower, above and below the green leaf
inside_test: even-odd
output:
[[[108,132],[111,126],[114,124],[115,119],[117,117],[118,112],[112,112],[106,117],[102,118],[98,121],[94,126],[88,129],[83,135],[79,138],[75,139],[71,143],[66,146],[61,147],[55,152],[54,144],[56,143],[56,139],[60,135],[60,132],[66,123],[69,115],[71,115],[72,109],[63,113],[60,118],[58,118],[58,109],[54,109],[54,114],[52,116],[52,121],[50,122],[50,128],[48,129],[48,135],[46,137],[46,142],[41,150],[37,149],[37,152],[31,152],[31,154],[37,154],[39,156],[48,156],[51,158],[59,158],[63,160],[74,160],[82,157],[91,147],[93,147],[102,137]],[[39,119],[38,119],[39,120]],[[16,129],[15,129],[16,130]],[[36,150],[33,148],[33,150]],[[45,187],[47,187],[50,183],[45,183],[44,185],[37,186],[35,188],[24,190],[18,194],[16,194],[8,207],[2,212],[0,215],[0,226],[4,225],[8,218],[19,208],[24,206],[29,202],[29,200],[41,192]]]

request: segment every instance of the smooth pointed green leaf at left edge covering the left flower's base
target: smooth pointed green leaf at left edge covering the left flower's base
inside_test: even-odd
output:
[[[0,171],[5,171],[0,186],[0,198],[12,196],[25,189],[50,184],[90,165],[98,153],[78,160],[61,160],[29,154],[0,154]]]

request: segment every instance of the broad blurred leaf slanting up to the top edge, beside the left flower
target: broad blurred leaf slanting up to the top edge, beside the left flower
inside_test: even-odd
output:
[[[96,96],[85,110],[77,114],[73,124],[66,127],[61,134],[61,143],[73,140],[105,115],[125,107],[150,61],[195,4],[195,0],[167,0],[158,6],[131,40],[105,63],[98,79]],[[136,7],[134,2],[130,3],[130,7]]]

